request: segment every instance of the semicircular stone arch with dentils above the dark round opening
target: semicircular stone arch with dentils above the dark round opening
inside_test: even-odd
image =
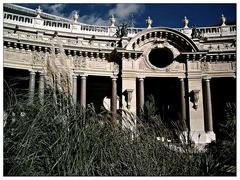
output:
[[[140,32],[126,46],[127,50],[139,50],[149,42],[168,42],[180,52],[197,52],[196,44],[183,33],[171,28],[151,28]]]

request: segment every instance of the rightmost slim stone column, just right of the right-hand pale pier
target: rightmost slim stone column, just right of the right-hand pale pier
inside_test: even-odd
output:
[[[210,79],[204,79],[203,81],[204,81],[204,114],[206,122],[205,131],[213,132]]]

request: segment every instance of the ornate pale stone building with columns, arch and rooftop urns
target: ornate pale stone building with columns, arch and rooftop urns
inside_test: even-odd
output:
[[[80,19],[80,20],[79,20]],[[44,100],[48,63],[67,68],[73,102],[137,114],[153,95],[162,118],[185,124],[196,143],[216,139],[223,105],[236,102],[236,25],[147,28],[80,23],[4,4],[4,79],[26,77],[21,87]],[[62,61],[64,60],[64,61]]]

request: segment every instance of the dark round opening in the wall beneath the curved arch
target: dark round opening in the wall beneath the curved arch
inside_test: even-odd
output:
[[[168,48],[155,48],[149,53],[149,61],[158,68],[164,68],[173,62],[173,53]]]

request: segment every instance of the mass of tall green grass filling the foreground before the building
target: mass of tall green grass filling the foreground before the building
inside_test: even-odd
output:
[[[174,151],[156,139],[172,133],[163,131],[164,123],[154,113],[147,115],[152,123],[138,118],[132,139],[121,123],[112,124],[109,112],[97,114],[92,105],[82,110],[69,103],[61,108],[46,95],[43,105],[35,99],[33,105],[18,100],[6,106],[5,176],[211,175],[205,161],[214,159],[209,153],[190,152],[189,147],[183,147],[185,153]]]

